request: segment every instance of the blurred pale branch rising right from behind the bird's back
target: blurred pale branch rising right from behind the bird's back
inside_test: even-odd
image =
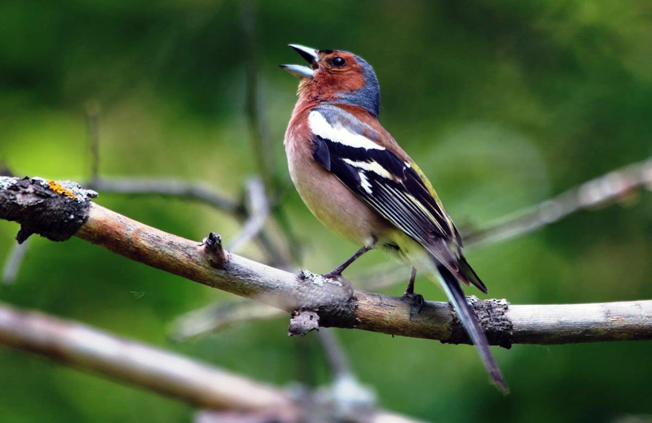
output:
[[[637,189],[652,190],[652,158],[617,169],[559,196],[499,218],[464,236],[468,246],[520,237],[569,214],[626,199]]]

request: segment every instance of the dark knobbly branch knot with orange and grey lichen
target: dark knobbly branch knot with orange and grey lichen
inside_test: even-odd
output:
[[[19,244],[33,233],[66,241],[86,222],[95,197],[95,191],[72,181],[0,177],[0,218],[20,224]]]

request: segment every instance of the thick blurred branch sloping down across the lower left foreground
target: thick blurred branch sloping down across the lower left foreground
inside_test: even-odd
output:
[[[2,303],[0,345],[91,370],[206,409],[261,413],[274,416],[273,421],[306,421],[301,418],[301,401],[279,388],[87,325]],[[318,396],[319,392],[311,395]],[[383,411],[373,411],[369,417],[371,422],[415,422]]]

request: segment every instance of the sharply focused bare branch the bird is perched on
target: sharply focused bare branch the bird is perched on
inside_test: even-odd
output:
[[[78,207],[82,203],[71,195],[86,194],[83,190],[62,194],[50,190],[48,194],[50,186],[42,179],[1,177],[0,218],[22,224],[23,235],[40,233],[50,239],[67,239],[72,235],[72,228],[61,222],[68,216],[67,208],[74,207],[76,213],[83,214]],[[65,186],[72,184],[68,182]],[[226,254],[226,261],[216,269],[196,241],[126,218],[91,203],[87,197],[83,204],[85,216],[76,220],[81,222],[73,232],[76,237],[157,269],[286,311],[313,310],[323,327],[355,327],[441,342],[469,343],[466,331],[448,303],[426,302],[417,314],[413,304],[406,300],[354,292],[344,278],[329,280],[306,271],[297,276],[235,254]],[[61,228],[65,233],[60,233]],[[512,343],[652,339],[650,300],[548,306],[510,305],[504,300],[472,302],[490,343],[503,347]]]

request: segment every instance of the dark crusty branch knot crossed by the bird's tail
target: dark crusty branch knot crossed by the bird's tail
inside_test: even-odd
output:
[[[473,312],[478,318],[487,340],[490,345],[500,345],[503,348],[512,347],[512,330],[514,325],[507,317],[507,300],[480,300],[474,295],[467,297]],[[453,306],[449,304],[451,314],[454,316],[451,322],[451,336],[448,339],[441,340],[441,343],[471,343],[471,338],[462,325]]]

